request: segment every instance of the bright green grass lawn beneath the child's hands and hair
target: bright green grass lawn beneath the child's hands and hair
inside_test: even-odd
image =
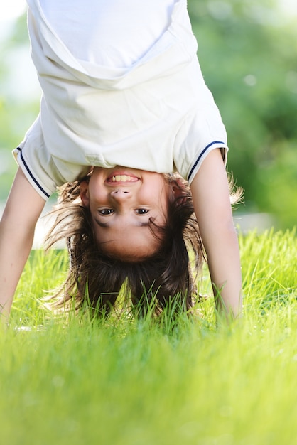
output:
[[[43,289],[67,256],[34,252],[0,336],[0,444],[296,444],[296,233],[240,244],[242,320],[216,328],[210,298],[174,331],[166,317],[50,315]]]

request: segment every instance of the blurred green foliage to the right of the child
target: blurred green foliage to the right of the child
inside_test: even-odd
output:
[[[274,0],[188,0],[202,73],[227,127],[229,169],[245,189],[246,208],[277,213],[280,225],[292,226],[297,28],[280,20],[276,6]]]

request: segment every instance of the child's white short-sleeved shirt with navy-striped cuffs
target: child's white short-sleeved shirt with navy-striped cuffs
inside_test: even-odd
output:
[[[67,38],[71,26],[63,36],[67,9],[57,25],[58,11],[50,15],[53,1],[48,0],[45,10],[45,0],[27,1],[32,58],[43,97],[36,122],[13,154],[43,198],[57,186],[85,176],[90,166],[177,170],[190,183],[210,150],[221,148],[227,160],[225,127],[200,71],[186,0],[154,0],[163,16],[158,26],[147,23],[147,16],[141,18],[143,12],[152,20],[153,9],[148,13],[147,5],[136,8],[141,24],[136,34],[139,40],[146,36],[145,45],[135,43],[135,35],[129,44],[126,30],[134,25],[135,15],[125,14],[126,24],[117,36],[117,21],[112,20],[120,16],[122,3],[130,11],[129,4],[136,6],[136,0],[108,0],[107,9],[102,6],[108,13],[102,31],[97,30],[97,19],[87,26],[85,18],[80,31],[73,30],[75,41],[82,39],[80,48]],[[79,14],[93,3],[71,2],[72,9],[82,5]],[[77,14],[69,13],[71,23]],[[103,48],[112,34],[115,51],[107,60]]]

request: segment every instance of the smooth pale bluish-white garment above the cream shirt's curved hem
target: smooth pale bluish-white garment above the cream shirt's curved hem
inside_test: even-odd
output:
[[[166,31],[175,0],[40,3],[46,20],[75,58],[122,68],[139,60]]]

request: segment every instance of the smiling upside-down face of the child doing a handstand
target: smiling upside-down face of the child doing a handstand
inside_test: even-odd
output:
[[[172,196],[162,174],[134,168],[95,167],[90,182],[81,184],[100,248],[120,259],[144,259],[158,250],[148,221],[165,224]]]

